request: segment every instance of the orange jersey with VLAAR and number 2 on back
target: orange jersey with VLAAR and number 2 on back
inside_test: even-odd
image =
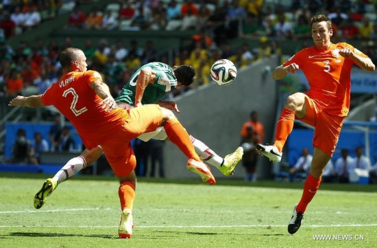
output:
[[[53,105],[75,126],[86,148],[92,149],[106,140],[114,128],[121,128],[127,111],[102,108],[102,99],[90,88],[90,84],[101,80],[97,71],[69,72],[64,74],[42,95],[45,106]]]

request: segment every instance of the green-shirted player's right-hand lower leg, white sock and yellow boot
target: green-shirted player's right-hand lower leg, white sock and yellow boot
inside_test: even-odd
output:
[[[234,168],[242,159],[243,148],[241,147],[237,148],[234,153],[222,158],[199,139],[196,139],[192,135],[190,135],[190,139],[195,148],[195,152],[199,155],[200,159],[206,161],[211,166],[215,166],[226,176],[233,174]]]

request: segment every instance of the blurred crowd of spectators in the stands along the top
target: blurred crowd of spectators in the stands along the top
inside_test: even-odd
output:
[[[32,45],[23,41],[18,47],[7,45],[5,38],[21,34],[64,11],[70,13],[65,25],[68,30],[196,30],[190,45],[180,47],[179,54],[170,62],[193,65],[198,74],[193,87],[210,82],[210,65],[219,58],[228,58],[241,68],[271,54],[280,54],[279,41],[310,38],[308,22],[317,13],[328,14],[337,40],[361,40],[360,48],[377,62],[376,0],[119,0],[108,3],[103,10],[93,8],[88,13],[82,12],[82,5],[77,4],[80,2],[90,0],[3,1],[0,95],[43,93],[60,77],[58,54],[65,47],[75,46],[71,38],[66,37],[62,45],[39,40]],[[234,38],[243,39],[235,49]],[[258,39],[258,47],[250,47],[250,38]],[[303,42],[302,47],[309,44]],[[121,40],[111,44],[106,39],[93,44],[88,39],[79,48],[88,58],[88,68],[103,74],[114,95],[141,65],[156,60],[169,64],[153,41],[141,47],[136,39],[130,44]]]

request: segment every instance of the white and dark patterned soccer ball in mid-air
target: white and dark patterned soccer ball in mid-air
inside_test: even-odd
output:
[[[236,66],[225,58],[219,59],[210,67],[210,77],[221,86],[231,84],[237,76]]]

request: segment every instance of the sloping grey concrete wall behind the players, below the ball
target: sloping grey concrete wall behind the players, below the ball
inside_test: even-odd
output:
[[[180,114],[178,119],[189,132],[221,156],[232,153],[240,144],[240,132],[250,112],[259,112],[259,120],[265,126],[263,142],[271,142],[275,126],[277,94],[276,83],[271,71],[264,74],[266,67],[277,65],[277,58],[270,58],[239,69],[236,80],[225,87],[207,84],[189,91],[176,99]],[[265,76],[263,76],[265,75]],[[270,164],[264,157],[258,158],[259,177],[269,177]],[[168,178],[198,177],[186,170],[187,159],[171,142],[165,146],[165,175]],[[221,172],[210,166],[215,177]],[[236,168],[233,177],[242,178],[242,164]]]

